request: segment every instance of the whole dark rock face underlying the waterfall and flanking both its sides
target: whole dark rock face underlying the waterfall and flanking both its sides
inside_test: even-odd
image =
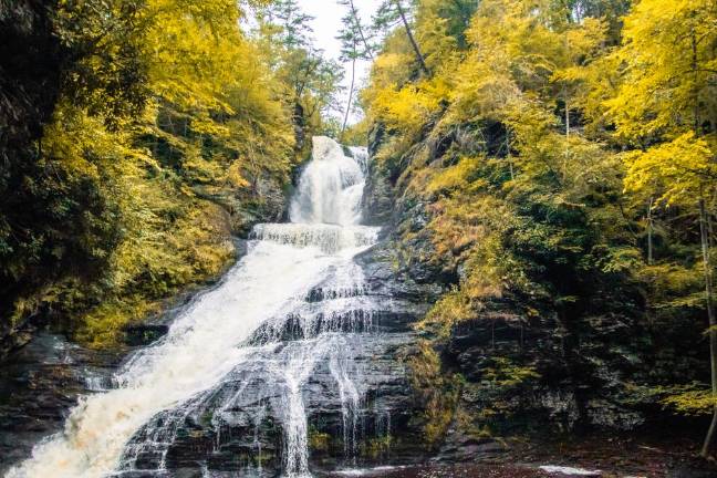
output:
[[[366,190],[367,221],[388,226],[378,245],[354,258],[362,287],[336,289],[328,281],[310,290],[299,308],[319,311],[310,328],[301,313],[260,328],[248,344],[250,360],[219,386],[135,434],[117,476],[277,476],[302,446],[287,429],[291,384],[277,375],[300,351],[316,357],[300,392],[312,470],[493,458],[510,451],[497,436],[631,432],[654,419],[655,409],[624,396],[625,381],[650,363],[648,344],[623,315],[571,322],[544,309],[527,316],[508,295],[445,340],[418,332],[416,322],[457,283],[459,271],[427,259],[435,251],[426,204],[396,199],[375,165]],[[168,320],[128,330],[128,344],[156,340]],[[326,332],[341,334],[340,350],[319,352]],[[430,366],[422,367],[426,353]],[[119,357],[52,335],[14,355],[0,372],[0,472],[59,430],[79,394],[111,387]]]

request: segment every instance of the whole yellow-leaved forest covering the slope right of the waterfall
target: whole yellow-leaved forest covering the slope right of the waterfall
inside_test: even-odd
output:
[[[385,2],[401,6],[361,98],[380,167],[427,205],[403,242],[427,235],[424,260],[458,274],[424,329],[448,340],[498,303],[582,336],[637,323],[657,352],[623,396],[713,414],[715,2]],[[667,357],[687,343],[702,358]]]

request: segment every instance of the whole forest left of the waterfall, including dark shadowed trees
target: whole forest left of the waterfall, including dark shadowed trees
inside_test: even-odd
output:
[[[2,3],[3,71],[22,85],[3,121],[38,104],[34,131],[2,136],[2,330],[52,316],[112,343],[221,271],[232,230],[281,215],[340,70],[297,37],[292,1],[32,6]],[[15,58],[28,41],[35,56]]]

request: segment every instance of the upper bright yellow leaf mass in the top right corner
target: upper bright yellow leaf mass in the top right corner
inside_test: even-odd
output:
[[[622,84],[605,102],[627,139],[672,137],[717,107],[717,11],[713,0],[642,0],[625,17],[614,53]]]

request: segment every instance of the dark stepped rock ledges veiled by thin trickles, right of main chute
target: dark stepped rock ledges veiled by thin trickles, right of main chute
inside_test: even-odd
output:
[[[320,357],[301,387],[311,468],[420,460],[426,449],[414,423],[416,404],[404,358],[416,342],[411,325],[438,290],[398,280],[391,257],[383,243],[356,258],[365,276],[361,290],[312,289],[305,298],[309,308],[330,310],[328,304],[343,301],[341,312],[314,322],[315,331],[303,326],[299,315],[279,321],[278,329],[268,324],[258,330],[250,340],[252,356],[219,387],[157,415],[135,435],[123,476],[163,468],[186,476],[201,469],[274,476],[292,446],[287,443],[287,384],[277,376],[276,364],[291,366],[306,343]],[[341,332],[341,350],[321,354],[331,326]]]

